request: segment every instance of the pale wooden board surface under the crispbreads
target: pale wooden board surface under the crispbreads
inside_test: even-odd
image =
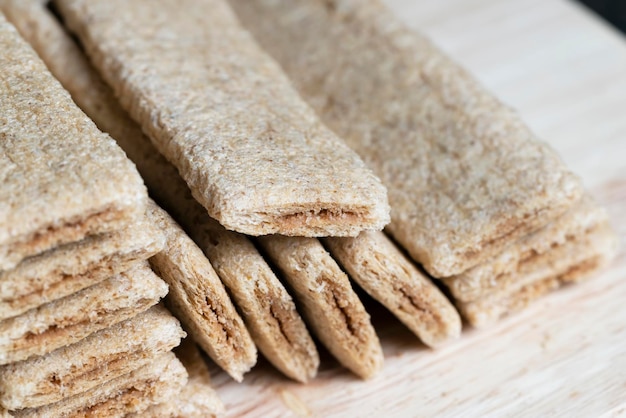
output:
[[[289,381],[265,361],[237,384],[216,366],[229,417],[626,415],[626,38],[565,0],[388,0],[559,150],[621,237],[605,273],[431,351],[368,303],[385,352],[363,382],[322,353]]]

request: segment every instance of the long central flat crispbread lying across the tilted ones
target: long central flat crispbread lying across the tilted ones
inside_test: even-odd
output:
[[[228,229],[354,236],[389,221],[380,180],[223,0],[56,3],[122,105]]]

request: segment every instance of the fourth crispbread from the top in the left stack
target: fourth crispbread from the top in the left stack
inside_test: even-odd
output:
[[[92,389],[172,350],[185,333],[165,308],[95,332],[49,354],[0,368],[0,404],[34,408]]]

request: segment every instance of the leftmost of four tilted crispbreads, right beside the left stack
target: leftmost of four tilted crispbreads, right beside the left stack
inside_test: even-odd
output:
[[[252,337],[202,250],[174,220],[152,203],[150,220],[166,235],[166,247],[150,259],[170,286],[168,306],[211,358],[235,380],[255,364]]]

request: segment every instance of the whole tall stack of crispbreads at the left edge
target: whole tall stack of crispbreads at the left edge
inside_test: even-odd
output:
[[[171,352],[185,333],[157,305],[168,287],[147,260],[166,250],[143,181],[2,13],[0,54],[0,411],[126,416],[170,401],[187,382]]]

